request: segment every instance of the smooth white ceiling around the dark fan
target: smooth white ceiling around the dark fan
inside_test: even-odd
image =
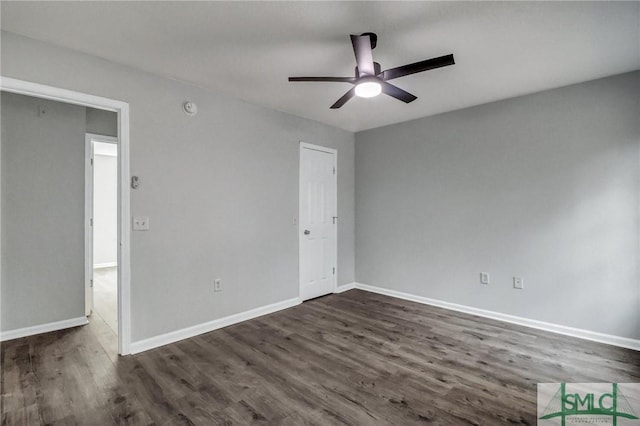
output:
[[[2,2],[2,28],[276,110],[359,131],[640,69],[640,2]],[[349,34],[378,34],[383,69],[418,99],[333,104]]]

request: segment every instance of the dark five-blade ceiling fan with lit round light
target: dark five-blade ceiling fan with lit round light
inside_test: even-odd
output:
[[[389,80],[455,64],[451,54],[381,71],[380,64],[373,62],[373,54],[371,52],[376,47],[377,42],[378,36],[375,33],[351,34],[351,44],[356,54],[355,77],[289,77],[289,81],[332,81],[353,84],[351,90],[331,105],[332,109],[340,108],[354,95],[362,98],[372,98],[384,93],[409,103],[415,101],[417,97],[388,83]]]

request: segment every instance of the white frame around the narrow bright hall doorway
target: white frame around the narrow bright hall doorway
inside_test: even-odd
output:
[[[84,136],[84,314],[93,309],[93,142],[118,144],[118,138],[85,133]]]

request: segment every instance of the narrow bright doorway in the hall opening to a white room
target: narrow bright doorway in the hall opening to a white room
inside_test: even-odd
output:
[[[118,334],[118,139],[85,137],[85,314]]]

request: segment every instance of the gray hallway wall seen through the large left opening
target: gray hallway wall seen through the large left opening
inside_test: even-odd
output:
[[[85,108],[1,99],[2,330],[81,317]]]

